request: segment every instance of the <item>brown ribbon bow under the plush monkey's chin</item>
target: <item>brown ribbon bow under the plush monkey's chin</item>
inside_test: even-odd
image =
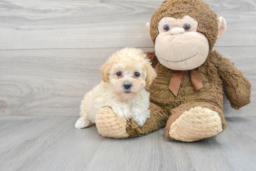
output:
[[[172,73],[168,88],[171,90],[171,92],[175,96],[178,95],[178,92],[180,89],[180,83],[181,83],[182,77],[184,75],[184,72],[185,71],[174,70]],[[201,77],[200,77],[199,67],[190,70],[190,77],[191,77],[191,82],[193,84],[195,91],[197,91],[203,87]]]

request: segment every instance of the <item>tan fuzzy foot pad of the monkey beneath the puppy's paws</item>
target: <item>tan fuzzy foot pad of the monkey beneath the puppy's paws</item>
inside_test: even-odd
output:
[[[116,116],[110,107],[102,107],[95,116],[95,123],[102,136],[127,138],[126,120]]]

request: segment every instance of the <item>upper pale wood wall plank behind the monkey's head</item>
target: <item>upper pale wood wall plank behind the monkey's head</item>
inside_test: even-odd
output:
[[[0,49],[153,47],[146,34],[163,0],[1,0]],[[256,2],[206,0],[227,22],[216,46],[256,45]]]

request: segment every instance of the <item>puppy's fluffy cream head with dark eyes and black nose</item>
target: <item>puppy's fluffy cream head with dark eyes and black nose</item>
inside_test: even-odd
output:
[[[135,48],[125,48],[114,53],[100,72],[102,80],[110,82],[114,92],[124,100],[135,98],[156,77],[146,54]]]

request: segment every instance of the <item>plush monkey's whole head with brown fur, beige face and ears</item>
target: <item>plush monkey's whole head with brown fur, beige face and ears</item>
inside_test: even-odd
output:
[[[191,70],[205,62],[209,50],[226,31],[226,22],[222,17],[217,19],[202,0],[166,0],[146,24],[146,31],[162,65]]]

